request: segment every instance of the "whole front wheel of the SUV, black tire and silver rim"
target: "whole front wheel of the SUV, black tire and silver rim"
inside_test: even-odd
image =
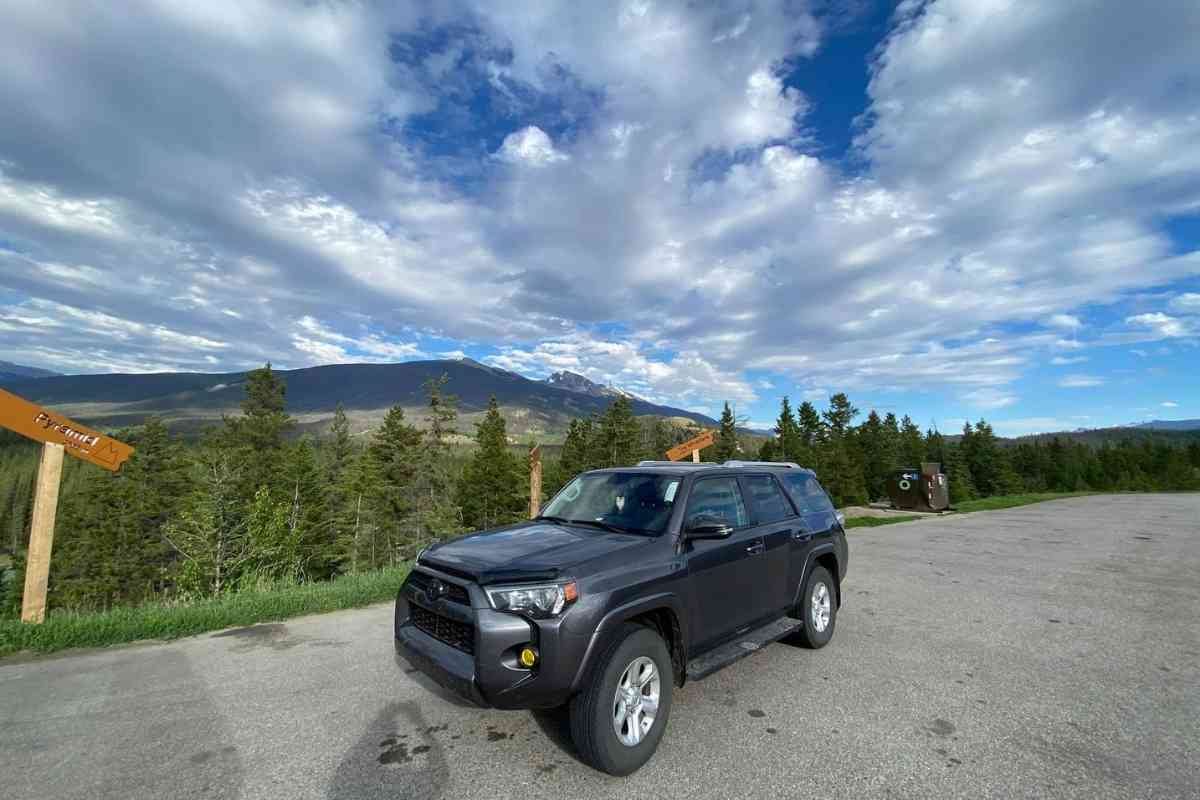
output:
[[[662,739],[673,687],[671,655],[656,632],[626,625],[571,700],[571,739],[584,762],[629,775]]]

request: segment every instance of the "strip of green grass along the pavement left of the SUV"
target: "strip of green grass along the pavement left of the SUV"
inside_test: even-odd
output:
[[[391,600],[408,575],[394,567],[343,576],[325,583],[241,591],[192,603],[146,603],[104,612],[54,612],[41,625],[0,620],[0,656],[32,650],[102,648],[140,639],[175,639],[239,625],[253,625],[356,608]]]

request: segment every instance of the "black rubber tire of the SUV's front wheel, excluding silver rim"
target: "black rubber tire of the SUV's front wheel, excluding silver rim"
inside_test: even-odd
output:
[[[641,742],[629,746],[617,738],[613,727],[614,697],[617,684],[626,667],[642,656],[650,658],[658,669],[659,706]],[[650,760],[667,727],[673,686],[671,654],[667,652],[662,637],[642,625],[628,624],[622,627],[598,658],[587,686],[571,699],[571,739],[580,757],[590,766],[610,775],[629,775]]]

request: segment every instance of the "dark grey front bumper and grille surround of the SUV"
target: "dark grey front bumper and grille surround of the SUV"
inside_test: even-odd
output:
[[[438,685],[481,706],[554,708],[570,698],[576,667],[587,649],[586,637],[563,630],[563,618],[528,620],[497,612],[475,584],[424,565],[421,572],[461,585],[469,604],[444,597],[430,600],[410,577],[396,599],[395,646],[400,656]],[[428,622],[422,630],[413,619],[414,607],[470,626],[469,639],[444,634],[438,638]],[[539,652],[533,669],[516,662],[524,646]]]

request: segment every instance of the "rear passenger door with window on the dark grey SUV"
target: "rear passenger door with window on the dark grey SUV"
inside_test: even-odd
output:
[[[755,602],[757,618],[779,616],[794,599],[791,585],[793,536],[803,530],[792,501],[784,493],[775,476],[743,475],[742,491],[750,507],[754,530],[762,537],[766,581],[760,584]]]

